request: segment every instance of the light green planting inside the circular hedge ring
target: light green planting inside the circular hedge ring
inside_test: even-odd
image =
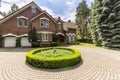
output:
[[[54,53],[54,50],[50,49],[50,50],[38,52],[36,53],[36,55],[43,57],[65,57],[65,56],[73,55],[73,52],[64,49],[56,49],[56,52]]]

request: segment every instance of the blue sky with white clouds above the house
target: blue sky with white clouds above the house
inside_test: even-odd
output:
[[[64,21],[75,22],[76,7],[82,0],[1,0],[0,11],[8,12],[12,4],[17,4],[19,8],[34,1],[42,10],[46,10],[53,17],[61,17]],[[88,6],[94,0],[86,0]],[[2,18],[2,16],[0,16]]]

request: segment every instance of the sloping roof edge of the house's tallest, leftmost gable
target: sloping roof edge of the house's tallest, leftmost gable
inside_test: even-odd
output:
[[[2,19],[0,20],[0,23],[5,22],[6,20],[8,20],[8,19],[10,19],[11,17],[13,17],[14,15],[22,12],[23,10],[27,9],[27,8],[30,7],[30,6],[35,6],[38,10],[42,11],[42,9],[41,9],[34,1],[32,1],[31,3],[23,6],[22,8],[18,9],[17,11],[15,11],[15,12],[9,14],[8,16],[2,18]]]

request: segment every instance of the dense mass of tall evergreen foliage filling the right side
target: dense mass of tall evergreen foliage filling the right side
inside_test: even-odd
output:
[[[91,30],[95,44],[120,49],[119,0],[95,0],[91,10]]]

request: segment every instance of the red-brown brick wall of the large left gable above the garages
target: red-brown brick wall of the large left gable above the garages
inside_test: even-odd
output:
[[[13,34],[16,34],[16,35],[28,33],[29,30],[31,29],[30,21],[28,20],[29,21],[29,27],[27,27],[27,28],[26,27],[18,27],[17,26],[17,17],[25,16],[25,17],[31,19],[32,17],[38,15],[39,13],[41,13],[41,12],[38,9],[36,9],[36,14],[32,14],[31,13],[31,7],[23,10],[19,14],[15,15],[12,18],[8,19],[7,21],[3,22],[0,25],[0,33],[1,34],[13,33]]]

